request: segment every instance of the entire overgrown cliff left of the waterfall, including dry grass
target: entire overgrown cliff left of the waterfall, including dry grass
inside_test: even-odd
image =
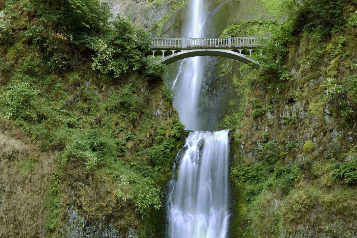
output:
[[[161,232],[184,127],[147,34],[110,16],[97,0],[0,2],[1,237]]]

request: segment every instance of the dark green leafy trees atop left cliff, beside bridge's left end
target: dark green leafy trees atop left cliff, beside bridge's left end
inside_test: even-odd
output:
[[[99,0],[43,0],[23,2],[24,9],[35,12],[42,21],[26,30],[27,41],[44,52],[45,68],[51,72],[76,69],[88,51],[92,69],[114,78],[145,68],[148,80],[158,79],[164,69],[144,57],[149,50],[149,35],[138,30],[127,17],[112,22],[109,7]],[[49,26],[55,25],[55,30]]]

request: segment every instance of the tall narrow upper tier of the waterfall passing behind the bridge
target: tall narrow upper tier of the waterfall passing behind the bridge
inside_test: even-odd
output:
[[[203,37],[206,10],[202,0],[190,0],[191,19],[186,24],[186,37]],[[192,57],[181,62],[172,89],[176,92],[174,106],[187,130],[197,130],[197,103],[202,83],[202,58]],[[178,79],[178,80],[177,80]],[[177,82],[177,83],[176,83]]]

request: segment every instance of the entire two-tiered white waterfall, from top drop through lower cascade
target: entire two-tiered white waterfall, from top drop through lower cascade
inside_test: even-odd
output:
[[[203,37],[202,0],[191,0],[188,37]],[[172,84],[174,106],[187,130],[198,130],[198,98],[202,83],[200,57],[181,61]],[[167,237],[225,238],[228,229],[228,131],[191,132],[177,155],[178,175],[169,184]]]

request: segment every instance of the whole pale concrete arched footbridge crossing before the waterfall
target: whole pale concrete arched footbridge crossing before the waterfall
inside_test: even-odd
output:
[[[250,56],[257,47],[264,45],[265,39],[252,37],[152,39],[150,47],[153,59],[157,55],[162,55],[162,58],[156,62],[165,65],[189,57],[210,55],[238,60],[258,69],[258,63]]]

